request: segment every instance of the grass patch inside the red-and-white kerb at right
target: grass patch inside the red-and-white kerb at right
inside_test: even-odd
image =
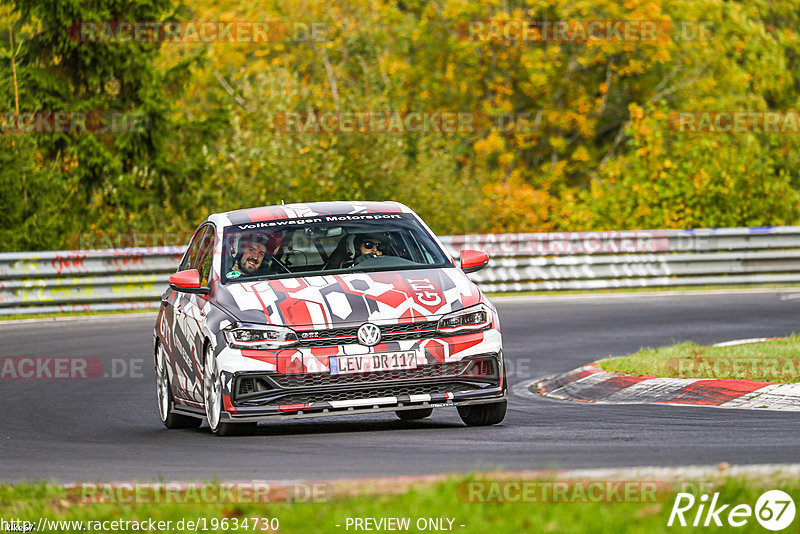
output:
[[[643,348],[629,356],[602,360],[600,367],[617,373],[668,378],[798,382],[800,336],[732,347],[680,343],[659,349]]]

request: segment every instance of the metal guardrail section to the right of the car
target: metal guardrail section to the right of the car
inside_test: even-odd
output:
[[[488,252],[484,291],[800,282],[800,226],[452,236]]]

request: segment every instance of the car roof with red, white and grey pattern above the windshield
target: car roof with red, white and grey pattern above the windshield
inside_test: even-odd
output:
[[[315,217],[318,215],[349,215],[354,213],[413,213],[407,206],[391,201],[333,201],[281,204],[215,213],[208,220],[221,226],[247,224],[278,219]]]

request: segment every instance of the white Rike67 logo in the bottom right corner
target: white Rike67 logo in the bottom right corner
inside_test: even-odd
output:
[[[695,509],[696,508],[696,509]],[[682,527],[691,526],[708,527],[711,525],[721,527],[743,527],[755,515],[756,521],[767,530],[783,530],[794,521],[794,501],[788,493],[781,490],[764,492],[756,501],[755,508],[749,504],[722,504],[719,493],[714,493],[709,502],[708,494],[704,493],[697,499],[691,493],[678,493],[675,504],[669,514],[667,526],[679,524]]]

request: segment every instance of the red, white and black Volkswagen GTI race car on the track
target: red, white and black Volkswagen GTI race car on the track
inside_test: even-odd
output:
[[[208,217],[169,277],[154,329],[167,428],[216,435],[259,421],[456,407],[500,423],[497,311],[408,207],[316,202]]]

